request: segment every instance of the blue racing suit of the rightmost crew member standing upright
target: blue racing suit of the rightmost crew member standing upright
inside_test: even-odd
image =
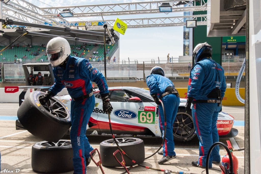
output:
[[[197,103],[197,100],[208,100],[207,95],[215,88],[221,90],[221,98],[226,91],[224,69],[211,58],[204,58],[197,62],[189,75],[188,97],[194,100],[192,117],[199,139],[198,164],[205,167],[206,157],[210,146],[219,141],[217,132],[217,116],[221,110],[218,103]],[[219,146],[215,146],[209,158],[209,167],[212,160],[220,162]]]

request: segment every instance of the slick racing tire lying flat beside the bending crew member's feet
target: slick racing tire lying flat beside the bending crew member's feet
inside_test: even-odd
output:
[[[134,161],[136,164],[142,163],[145,159],[145,149],[144,142],[138,138],[116,138],[118,145],[122,148],[122,150]],[[113,156],[113,153],[118,149],[114,139],[105,140],[100,143],[100,157],[102,160],[102,164],[104,166],[109,167],[121,167],[121,164]],[[121,152],[121,150],[120,150]],[[131,166],[135,165],[129,158],[122,154],[125,165]],[[116,154],[117,159],[121,162],[122,157],[118,152]]]

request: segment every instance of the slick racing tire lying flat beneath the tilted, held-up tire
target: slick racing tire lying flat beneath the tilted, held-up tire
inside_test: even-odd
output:
[[[73,148],[70,140],[41,141],[32,147],[32,169],[41,173],[64,173],[73,170]]]

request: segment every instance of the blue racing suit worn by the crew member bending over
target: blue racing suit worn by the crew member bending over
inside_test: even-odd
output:
[[[161,98],[161,95],[166,92],[165,89],[167,87],[174,88],[173,83],[167,77],[158,74],[147,76],[146,83],[150,89],[150,94],[157,94],[158,98]],[[175,94],[169,94],[162,97],[161,100],[166,114],[166,121],[164,121],[163,108],[162,105],[159,105],[159,127],[162,138],[164,136],[164,122],[167,123],[166,136],[163,144],[163,156],[176,155],[174,152],[173,123],[179,108],[180,98]]]

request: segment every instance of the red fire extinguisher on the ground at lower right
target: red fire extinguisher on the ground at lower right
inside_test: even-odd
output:
[[[238,159],[236,158],[236,156],[233,155],[233,149],[232,149],[232,146],[231,146],[231,143],[229,140],[227,140],[227,144],[228,144],[228,149],[230,150],[230,153],[231,153],[231,156],[232,156],[232,160],[233,160],[233,172],[235,174],[238,174]],[[222,166],[224,167],[224,171],[222,170],[222,174],[227,174],[229,173],[229,170],[230,170],[230,162],[229,162],[229,156],[228,154],[224,155],[224,157],[222,158],[221,160],[221,164]],[[227,169],[229,168],[229,169]]]

